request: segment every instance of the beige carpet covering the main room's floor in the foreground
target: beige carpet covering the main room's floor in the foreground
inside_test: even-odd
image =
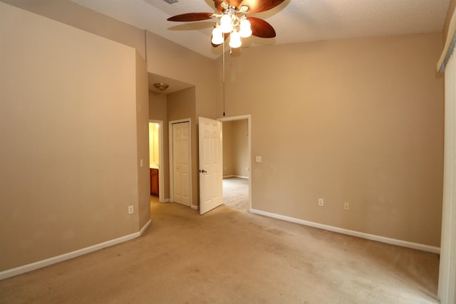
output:
[[[0,281],[0,303],[438,303],[436,254],[151,203],[133,241]]]

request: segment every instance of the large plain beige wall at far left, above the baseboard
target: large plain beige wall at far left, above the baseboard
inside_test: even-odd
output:
[[[135,49],[0,14],[0,271],[139,231]]]

